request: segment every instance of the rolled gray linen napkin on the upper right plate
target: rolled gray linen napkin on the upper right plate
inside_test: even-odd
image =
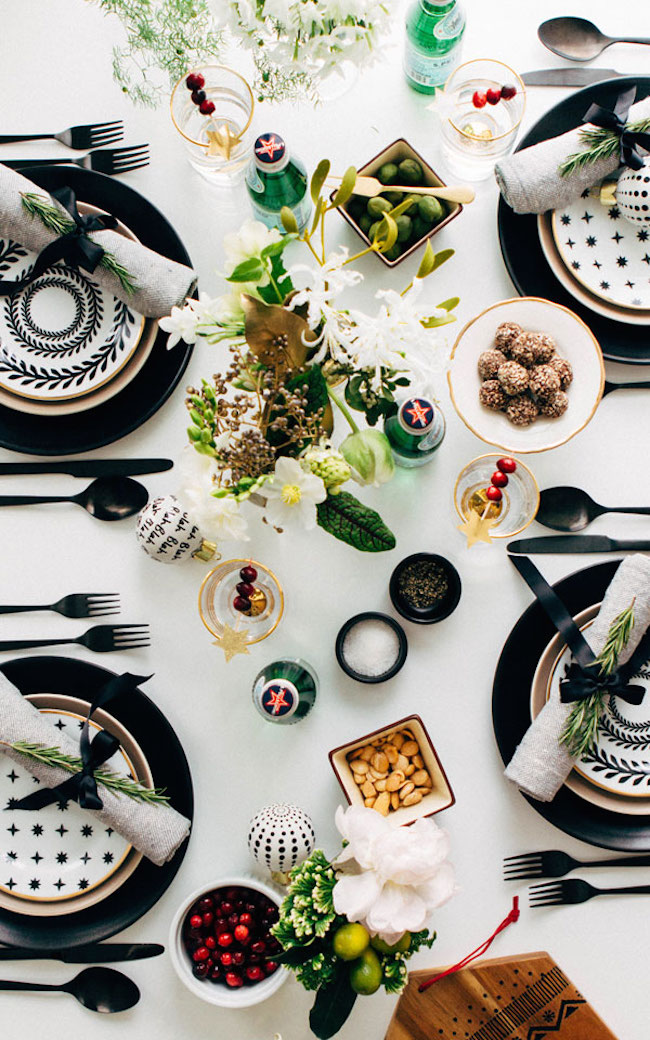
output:
[[[627,122],[650,116],[650,97],[638,101],[629,110]],[[505,202],[516,213],[545,213],[560,209],[574,199],[579,199],[586,188],[591,188],[619,167],[617,154],[610,159],[599,159],[578,167],[568,177],[562,177],[560,163],[580,152],[582,127],[569,130],[558,137],[550,137],[539,145],[524,148],[506,156],[494,167],[497,184]]]

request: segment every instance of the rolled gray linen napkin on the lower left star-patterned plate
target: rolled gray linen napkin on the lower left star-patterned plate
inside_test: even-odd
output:
[[[29,740],[48,748],[60,748],[68,755],[79,755],[79,744],[61,730],[55,729],[37,708],[26,700],[17,687],[0,673],[0,740],[15,744]],[[71,774],[67,770],[54,769],[7,748],[0,751],[41,780],[48,787],[56,787]],[[104,808],[84,811],[96,816],[107,827],[112,827],[134,849],[141,852],[156,866],[172,859],[177,849],[189,834],[189,821],[170,805],[153,805],[136,802],[124,795],[110,791],[101,784],[98,791]],[[26,791],[26,794],[31,794]],[[18,796],[17,796],[18,797]],[[25,810],[28,814],[28,810]]]

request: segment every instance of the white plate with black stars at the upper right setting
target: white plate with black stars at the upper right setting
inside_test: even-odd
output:
[[[552,230],[565,266],[590,292],[619,307],[650,308],[650,228],[583,192],[553,212]]]

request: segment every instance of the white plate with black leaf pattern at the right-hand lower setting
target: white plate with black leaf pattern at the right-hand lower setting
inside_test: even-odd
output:
[[[587,626],[589,627],[589,626]],[[553,667],[548,695],[556,696],[571,651],[565,647]],[[626,798],[650,796],[650,661],[631,677],[646,691],[641,704],[627,704],[618,697],[607,699],[601,717],[596,747],[575,772],[590,783]]]

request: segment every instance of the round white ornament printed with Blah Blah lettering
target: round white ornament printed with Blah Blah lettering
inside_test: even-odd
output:
[[[197,556],[212,560],[214,542],[207,542],[199,526],[174,495],[162,495],[148,502],[137,518],[135,537],[152,560],[177,564]]]

